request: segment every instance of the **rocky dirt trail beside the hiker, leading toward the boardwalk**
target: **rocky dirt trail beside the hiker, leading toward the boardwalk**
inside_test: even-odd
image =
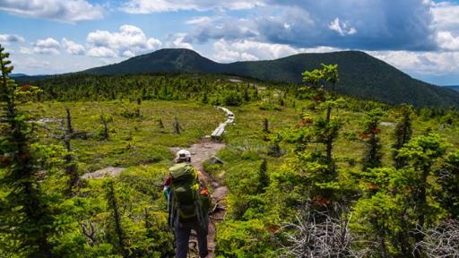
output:
[[[222,109],[227,116],[229,116],[228,109]],[[230,111],[229,111],[230,112]],[[232,114],[230,112],[230,114]],[[234,121],[234,115],[229,116],[230,122],[227,120],[227,124],[231,124]],[[219,125],[221,126],[221,125]],[[180,149],[186,149],[191,152],[191,164],[200,171],[201,178],[204,178],[205,184],[212,189],[212,203],[215,204],[215,207],[212,211],[212,214],[209,219],[209,235],[207,236],[207,246],[209,248],[208,258],[215,257],[214,251],[216,246],[216,227],[215,223],[224,219],[226,214],[226,196],[228,194],[228,187],[221,185],[217,178],[212,177],[204,171],[203,162],[207,159],[215,157],[217,152],[225,148],[226,144],[221,142],[212,142],[210,139],[204,139],[201,142],[193,144],[189,148],[170,148],[170,150],[177,152]],[[190,250],[196,250],[197,240],[195,236],[190,237]],[[198,257],[197,253],[191,254],[191,257]]]

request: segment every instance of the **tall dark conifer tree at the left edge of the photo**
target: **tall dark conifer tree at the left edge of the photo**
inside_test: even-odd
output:
[[[4,170],[0,184],[8,189],[0,202],[0,234],[7,241],[2,244],[11,255],[52,257],[53,212],[40,189],[38,166],[30,150],[33,128],[27,123],[28,114],[17,108],[17,85],[9,78],[13,66],[8,57],[0,46],[0,168]]]

